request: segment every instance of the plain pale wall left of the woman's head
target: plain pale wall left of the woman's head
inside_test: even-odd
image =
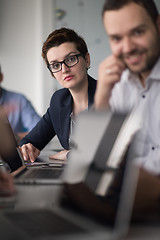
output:
[[[3,86],[24,93],[42,114],[54,89],[41,57],[54,27],[52,0],[0,0],[0,63]]]

